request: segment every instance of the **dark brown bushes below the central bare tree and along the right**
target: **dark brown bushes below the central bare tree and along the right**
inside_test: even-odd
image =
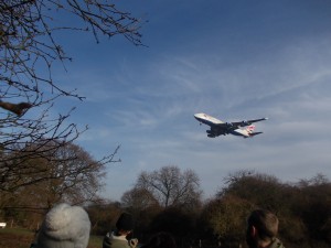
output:
[[[93,231],[104,235],[125,209],[135,215],[134,235],[142,241],[156,231],[167,230],[177,236],[181,247],[246,247],[246,218],[252,209],[260,207],[279,217],[279,237],[286,247],[330,247],[331,183],[325,176],[282,183],[273,175],[239,171],[225,180],[226,186],[215,197],[191,203],[191,207],[164,207],[152,202],[90,205]]]

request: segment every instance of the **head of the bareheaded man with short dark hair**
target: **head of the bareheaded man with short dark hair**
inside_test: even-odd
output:
[[[249,248],[264,247],[276,238],[278,218],[269,211],[253,211],[247,220],[246,241]]]

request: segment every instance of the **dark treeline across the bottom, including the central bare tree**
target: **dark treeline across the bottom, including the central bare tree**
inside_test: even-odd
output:
[[[141,242],[163,230],[177,237],[179,247],[246,247],[246,218],[252,209],[260,207],[278,216],[279,238],[286,247],[330,247],[331,182],[324,175],[284,183],[273,175],[239,171],[224,181],[225,186],[214,197],[202,201],[199,177],[192,170],[164,166],[142,172],[120,202],[98,200],[85,204],[92,234],[105,235],[127,211],[136,219],[132,235]],[[25,200],[26,192],[21,192]],[[17,193],[13,203],[23,195]],[[70,194],[64,195],[56,201],[74,203]],[[0,202],[3,204],[2,198]],[[42,202],[42,197],[31,195],[30,207],[2,205],[0,220],[36,229],[47,211],[38,207]]]

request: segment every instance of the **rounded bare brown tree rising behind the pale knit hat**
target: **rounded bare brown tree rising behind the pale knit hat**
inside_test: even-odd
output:
[[[54,144],[56,145],[56,144]],[[46,147],[44,147],[46,149]],[[55,203],[82,204],[99,201],[105,164],[95,161],[83,148],[67,143],[54,152],[28,157],[21,163],[20,173],[6,174],[13,188],[0,191],[3,207],[50,209]],[[17,187],[14,187],[17,186]],[[17,201],[12,202],[12,195]]]

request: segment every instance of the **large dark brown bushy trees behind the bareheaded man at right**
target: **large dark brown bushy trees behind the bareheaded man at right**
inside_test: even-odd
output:
[[[330,242],[331,183],[324,176],[289,184],[271,175],[239,171],[225,181],[227,186],[205,205],[202,215],[205,228],[225,242],[244,242],[246,217],[254,208],[278,216],[279,235],[288,246],[327,247]]]

